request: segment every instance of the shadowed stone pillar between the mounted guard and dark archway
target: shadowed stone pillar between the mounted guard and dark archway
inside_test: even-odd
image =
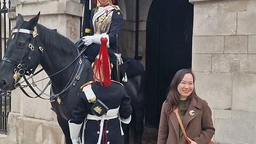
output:
[[[139,44],[138,54],[142,56],[142,64],[145,66],[146,59],[146,24],[148,11],[152,0],[139,1]],[[135,22],[136,22],[136,0],[118,1],[118,5],[123,11],[124,21],[123,30],[119,39],[119,47],[122,54],[126,57],[134,58],[135,56]]]

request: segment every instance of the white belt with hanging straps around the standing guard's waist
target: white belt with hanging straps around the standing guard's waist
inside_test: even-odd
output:
[[[116,109],[109,109],[107,115],[103,115],[103,116],[95,116],[95,115],[90,115],[90,114],[87,115],[86,119],[91,119],[91,120],[96,120],[96,121],[100,120],[100,135],[99,135],[97,144],[100,144],[100,142],[101,142],[102,133],[103,133],[103,125],[104,125],[105,120],[114,119],[114,118],[118,117],[119,123],[120,123],[121,134],[124,135],[122,125],[121,125],[121,120],[118,115],[118,110],[119,110],[119,107]]]

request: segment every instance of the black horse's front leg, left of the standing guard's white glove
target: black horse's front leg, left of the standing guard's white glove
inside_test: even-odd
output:
[[[66,144],[72,144],[72,141],[70,139],[70,134],[69,134],[68,121],[66,121],[65,119],[63,119],[59,115],[57,115],[57,120],[58,120],[58,123],[59,123],[59,125],[61,127],[62,132],[65,135]]]

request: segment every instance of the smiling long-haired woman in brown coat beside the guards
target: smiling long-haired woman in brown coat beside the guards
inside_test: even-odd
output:
[[[211,109],[205,100],[196,95],[194,82],[194,74],[189,69],[181,69],[174,75],[162,106],[158,144],[185,144],[187,141],[192,144],[207,143],[212,139],[215,129]],[[174,114],[177,108],[187,133],[186,138]]]

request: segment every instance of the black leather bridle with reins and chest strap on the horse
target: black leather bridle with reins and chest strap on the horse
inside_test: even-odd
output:
[[[34,82],[33,77],[34,77],[35,75],[39,74],[39,73],[43,70],[43,68],[42,68],[42,69],[38,70],[38,71],[34,74],[34,72],[35,72],[35,70],[36,70],[37,67],[35,67],[35,68],[30,68],[29,65],[28,65],[29,60],[30,60],[30,57],[31,57],[31,55],[33,54],[33,51],[35,50],[35,47],[34,47],[35,43],[37,44],[38,49],[39,49],[40,52],[41,52],[41,58],[40,58],[39,61],[42,61],[42,59],[43,59],[43,57],[44,57],[44,49],[43,49],[43,47],[42,47],[42,43],[41,43],[40,39],[37,38],[37,37],[38,37],[37,28],[36,28],[36,26],[35,26],[35,27],[34,27],[34,30],[28,30],[28,29],[13,29],[13,30],[12,30],[12,33],[25,33],[25,34],[31,35],[31,40],[30,40],[30,43],[29,43],[29,45],[28,45],[28,49],[26,50],[25,54],[23,55],[23,57],[22,57],[22,59],[21,59],[20,61],[18,61],[18,60],[13,60],[13,59],[6,58],[6,57],[3,58],[3,61],[12,63],[13,65],[17,66],[17,68],[14,69],[14,75],[13,75],[13,78],[14,78],[14,81],[15,81],[14,87],[15,87],[15,88],[19,87],[19,88],[21,89],[21,91],[22,91],[27,97],[29,97],[29,98],[38,98],[38,97],[39,97],[39,98],[41,98],[41,99],[45,99],[45,98],[41,97],[41,95],[42,95],[42,94],[45,94],[44,92],[45,92],[45,90],[47,89],[47,87],[51,84],[51,81],[49,81],[49,82],[47,83],[47,85],[45,86],[45,88],[44,88],[42,91],[39,90],[39,88],[36,86],[35,83],[36,83],[36,82],[39,82],[39,81],[43,81],[43,80],[46,79],[46,78],[50,78],[50,77],[52,77],[52,76],[54,76],[54,75],[59,74],[61,71],[67,69],[72,63],[74,63],[74,62],[79,58],[79,60],[78,60],[77,63],[76,63],[76,66],[75,66],[75,68],[74,68],[74,71],[73,71],[73,73],[72,73],[72,75],[71,75],[71,77],[70,77],[70,79],[69,79],[67,85],[65,86],[65,88],[64,88],[62,91],[60,91],[58,94],[54,94],[53,91],[52,91],[52,87],[51,87],[51,95],[48,95],[48,96],[50,96],[50,98],[49,98],[49,99],[45,99],[45,100],[50,100],[50,102],[55,102],[55,101],[57,101],[58,104],[59,104],[59,105],[58,105],[58,109],[59,109],[59,112],[60,112],[61,116],[67,120],[68,118],[63,114],[62,107],[61,107],[61,105],[62,105],[62,100],[65,98],[66,95],[63,95],[63,97],[60,97],[60,94],[66,92],[66,91],[69,89],[69,87],[75,86],[76,83],[77,83],[77,81],[79,80],[80,75],[81,75],[81,73],[82,73],[82,71],[83,71],[83,67],[84,67],[84,64],[85,64],[85,59],[87,58],[85,55],[82,55],[82,53],[86,50],[87,46],[85,46],[81,52],[78,52],[79,54],[77,55],[77,57],[76,57],[71,63],[69,63],[68,66],[66,66],[65,68],[61,69],[61,70],[58,71],[57,73],[54,73],[54,74],[51,75],[51,76],[48,76],[48,77],[46,77],[46,78],[43,78],[43,79],[41,79],[41,80],[39,80],[39,81]],[[80,43],[80,44],[77,45],[77,46],[79,47],[79,46],[81,46],[83,43],[84,43],[84,42]],[[77,71],[76,71],[76,69],[77,69]],[[75,71],[76,71],[76,73],[75,73]],[[33,80],[33,83],[29,83],[29,82],[28,82],[28,79],[26,78],[25,75],[28,75],[28,76],[31,75],[31,76],[29,77],[29,79],[31,78],[31,79]],[[19,80],[20,80],[21,77],[24,79],[24,81],[27,83],[27,85],[21,85],[21,84],[19,83]],[[72,79],[72,78],[73,78],[73,79]],[[24,81],[23,81],[23,82],[24,82]],[[21,83],[23,83],[23,82],[21,82]],[[37,89],[38,89],[39,91],[41,91],[41,93],[38,94],[38,93],[34,90],[34,88],[33,88],[31,85],[32,85],[32,86],[36,86]],[[31,96],[23,89],[23,87],[27,87],[27,86],[29,86],[29,88],[36,94],[36,97],[31,97]],[[45,94],[45,95],[47,95],[47,94]]]

